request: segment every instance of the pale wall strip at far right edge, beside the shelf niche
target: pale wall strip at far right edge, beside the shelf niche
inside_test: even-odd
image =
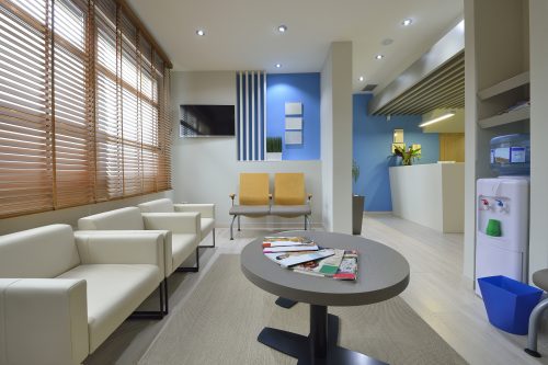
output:
[[[529,275],[548,267],[548,2],[529,0],[530,36],[530,226]]]

